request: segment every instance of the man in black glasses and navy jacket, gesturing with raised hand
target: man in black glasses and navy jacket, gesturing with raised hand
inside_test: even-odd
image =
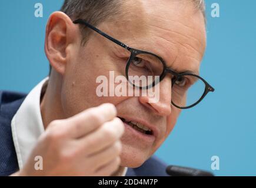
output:
[[[0,94],[0,174],[167,175],[152,155],[181,109],[214,90],[197,76],[206,41],[204,2],[66,0],[61,11],[46,26],[49,78],[27,96]],[[109,78],[109,71],[127,82],[141,72],[159,76],[159,100],[99,97],[96,80]],[[204,88],[188,105],[187,90],[197,80]],[[35,167],[38,159],[42,169]]]

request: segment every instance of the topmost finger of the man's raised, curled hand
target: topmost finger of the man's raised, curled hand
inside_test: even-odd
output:
[[[70,117],[66,121],[67,131],[72,138],[79,138],[96,130],[103,123],[114,119],[117,116],[117,109],[111,103],[105,103],[95,108]]]

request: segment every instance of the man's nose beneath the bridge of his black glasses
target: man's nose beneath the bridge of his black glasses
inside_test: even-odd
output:
[[[169,116],[171,114],[171,79],[166,76],[158,84],[159,100],[157,102],[150,102],[148,95],[139,97],[139,102],[159,116]]]

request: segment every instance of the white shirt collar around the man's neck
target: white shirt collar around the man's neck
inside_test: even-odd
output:
[[[18,159],[19,169],[24,167],[29,154],[32,152],[39,136],[44,133],[44,125],[42,123],[40,97],[44,83],[49,78],[45,78],[34,89],[29,92],[24,102],[12,118],[12,137]],[[127,167],[121,173],[125,176]]]

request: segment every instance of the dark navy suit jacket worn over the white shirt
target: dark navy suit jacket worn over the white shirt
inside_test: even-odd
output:
[[[9,176],[19,170],[12,140],[11,120],[25,97],[23,93],[0,91],[0,176]],[[166,167],[166,164],[152,156],[142,166],[128,168],[127,176],[167,176]]]

